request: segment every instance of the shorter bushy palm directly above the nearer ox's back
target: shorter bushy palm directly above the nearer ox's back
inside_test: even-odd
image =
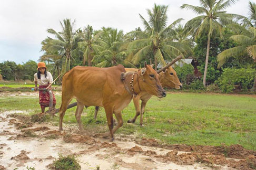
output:
[[[99,39],[101,39],[100,46],[92,60],[97,63],[96,67],[111,67],[122,63],[124,66],[136,68],[129,61],[124,60],[127,53],[122,46],[124,44],[122,30],[103,27]]]

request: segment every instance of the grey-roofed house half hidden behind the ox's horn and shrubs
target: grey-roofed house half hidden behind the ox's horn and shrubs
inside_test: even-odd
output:
[[[165,63],[169,63],[171,62],[171,60],[164,60]],[[197,66],[199,65],[198,61],[194,60],[192,57],[189,58],[184,58],[184,59],[180,59],[178,61],[176,61],[173,65],[172,68],[175,68],[177,66],[179,67],[183,67],[184,64],[191,64],[194,67],[194,77],[200,78],[202,77],[202,73],[198,71]],[[163,66],[159,63],[159,65],[157,65],[157,69],[162,68]]]

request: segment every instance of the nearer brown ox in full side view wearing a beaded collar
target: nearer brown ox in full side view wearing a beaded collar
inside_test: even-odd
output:
[[[59,130],[63,130],[62,121],[67,105],[72,98],[75,98],[77,100],[75,116],[79,129],[84,130],[81,113],[85,105],[104,107],[110,130],[110,141],[113,141],[113,133],[123,125],[121,111],[131,102],[132,93],[147,92],[159,98],[166,96],[159,81],[159,75],[150,65],[145,63],[145,68],[135,75],[127,74],[124,80],[121,80],[122,72],[125,72],[122,65],[110,68],[76,66],[68,71],[62,80]],[[130,83],[132,79],[133,83]],[[130,84],[133,85],[134,90]],[[118,123],[114,129],[113,114]]]

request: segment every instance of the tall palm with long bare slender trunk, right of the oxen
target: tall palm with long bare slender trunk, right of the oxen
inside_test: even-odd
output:
[[[199,0],[200,6],[183,4],[181,8],[190,9],[200,15],[185,24],[186,29],[189,29],[194,38],[199,38],[202,35],[208,35],[205,68],[203,75],[203,85],[206,87],[206,73],[208,68],[208,59],[210,51],[211,36],[214,31],[218,31],[221,35],[224,24],[232,22],[232,18],[238,15],[227,14],[224,9],[230,7],[237,0]]]

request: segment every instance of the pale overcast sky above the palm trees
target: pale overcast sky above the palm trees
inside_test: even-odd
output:
[[[227,12],[247,16],[248,2],[240,0]],[[60,21],[65,18],[76,20],[75,29],[91,25],[94,30],[104,26],[127,33],[137,27],[144,28],[139,14],[148,20],[146,9],[152,9],[154,3],[169,6],[168,24],[178,18],[183,18],[185,24],[196,15],[180,6],[199,5],[199,0],[1,0],[0,62],[37,61],[43,55],[41,41],[52,37],[46,29],[60,31]]]

